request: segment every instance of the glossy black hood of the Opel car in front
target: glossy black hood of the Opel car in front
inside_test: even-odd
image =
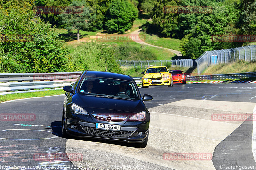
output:
[[[84,108],[87,112],[95,114],[139,113],[145,110],[145,105],[141,100],[113,99],[79,93],[73,96],[73,103]]]

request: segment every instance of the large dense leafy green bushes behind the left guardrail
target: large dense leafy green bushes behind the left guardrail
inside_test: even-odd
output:
[[[0,72],[66,71],[68,50],[55,29],[22,2],[17,6],[13,0],[0,7]]]

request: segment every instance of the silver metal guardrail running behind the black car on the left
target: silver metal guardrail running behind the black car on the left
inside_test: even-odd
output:
[[[24,92],[37,92],[44,90],[61,89],[71,85],[80,76],[79,72],[61,73],[2,73],[0,74],[0,95]],[[142,78],[134,77],[137,84]]]

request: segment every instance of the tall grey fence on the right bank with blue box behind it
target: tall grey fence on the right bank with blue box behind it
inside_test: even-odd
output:
[[[245,47],[205,51],[198,59],[197,74],[200,75],[210,65],[230,63],[232,61],[252,61],[256,59],[256,45]]]

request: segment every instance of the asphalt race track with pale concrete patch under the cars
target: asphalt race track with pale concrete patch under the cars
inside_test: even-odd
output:
[[[0,103],[0,169],[256,169],[254,84],[174,84],[140,92],[153,96],[145,102],[146,148],[62,138],[64,95]]]

